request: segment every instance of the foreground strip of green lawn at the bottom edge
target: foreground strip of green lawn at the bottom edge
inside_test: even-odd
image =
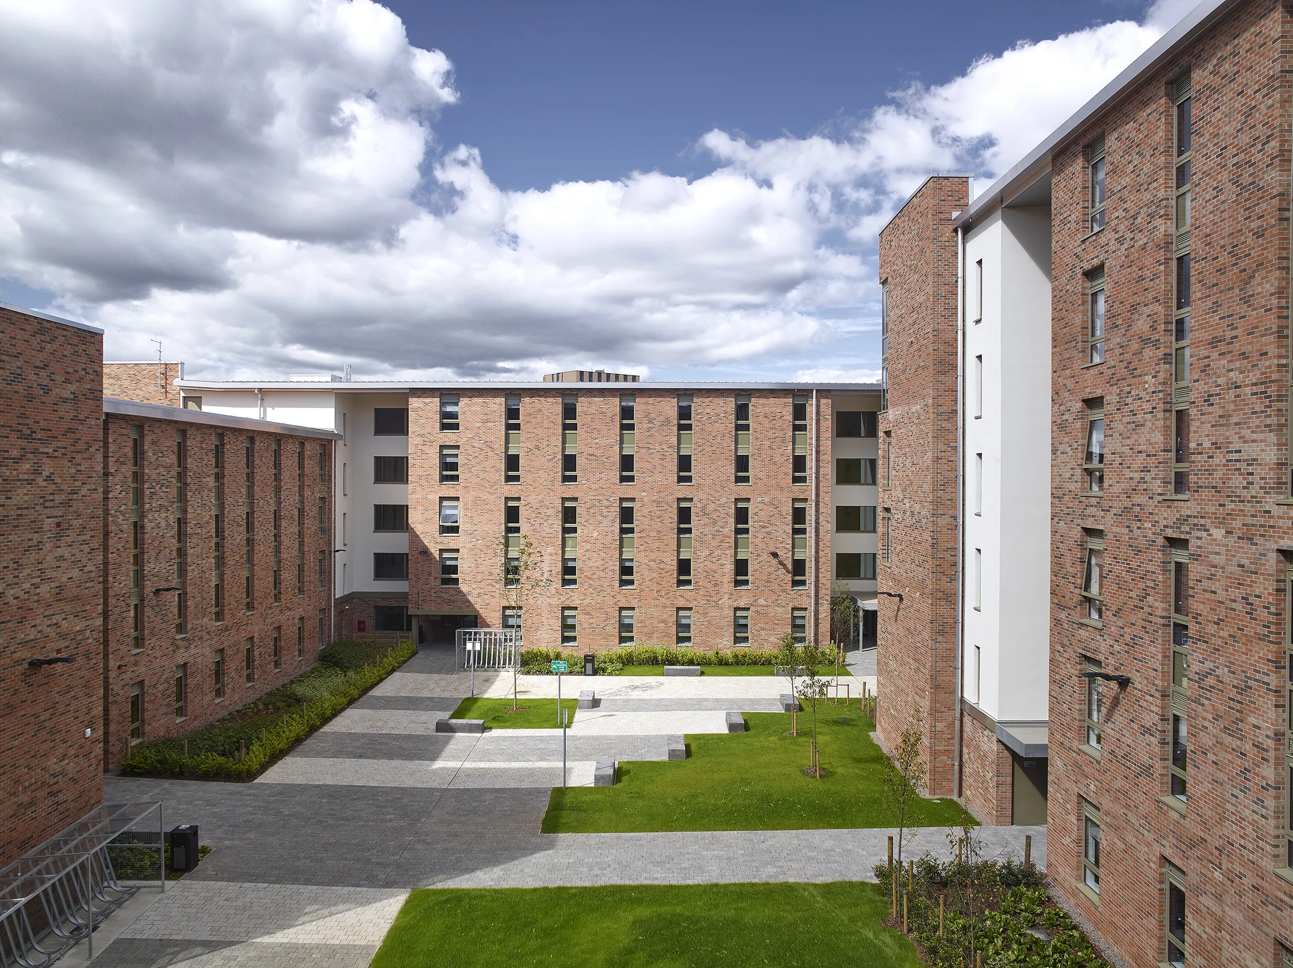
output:
[[[919,968],[875,884],[422,889],[371,968]]]

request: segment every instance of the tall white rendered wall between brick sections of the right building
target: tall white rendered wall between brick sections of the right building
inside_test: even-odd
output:
[[[980,260],[983,314],[975,322]],[[965,266],[965,695],[998,721],[1045,721],[1050,668],[1050,209],[1006,208],[989,216],[966,239]],[[976,357],[983,358],[981,388],[976,385]],[[981,416],[976,416],[980,394]],[[976,494],[979,454],[981,495]],[[981,575],[976,574],[979,561]],[[978,697],[975,646],[981,663]]]

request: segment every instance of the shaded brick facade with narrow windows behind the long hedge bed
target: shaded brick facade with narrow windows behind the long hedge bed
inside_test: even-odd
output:
[[[107,474],[105,508],[107,522],[106,582],[106,681],[102,711],[106,737],[103,765],[109,769],[128,755],[131,742],[131,691],[144,684],[142,739],[162,739],[189,731],[219,719],[286,680],[304,672],[318,658],[318,614],[325,610],[331,632],[331,588],[319,588],[318,552],[331,549],[331,535],[318,534],[318,498],[331,507],[331,483],[319,482],[318,451],[331,454],[331,443],[315,437],[294,437],[268,430],[250,432],[231,426],[169,419],[110,415],[105,421]],[[140,647],[132,650],[132,521],[131,428],[138,426],[142,441],[142,567],[138,598],[142,605]],[[186,605],[187,626],[176,631],[176,593],[154,589],[177,585],[176,579],[176,432],[186,437]],[[224,434],[224,615],[215,613],[216,542],[216,434]],[[246,441],[253,451],[253,610],[247,611],[247,470]],[[274,602],[274,442],[281,451],[281,601]],[[305,446],[305,569],[297,591],[297,445]],[[331,456],[326,461],[331,467]],[[328,514],[331,521],[331,514]],[[331,554],[325,579],[331,582]],[[297,654],[297,624],[304,619],[304,654]],[[279,662],[273,654],[274,629],[279,632]],[[253,640],[252,684],[246,681],[246,644]],[[215,695],[215,658],[225,657],[225,697]],[[187,667],[187,716],[176,711],[176,667]]]

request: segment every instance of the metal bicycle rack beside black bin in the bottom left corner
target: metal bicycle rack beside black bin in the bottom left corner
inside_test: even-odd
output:
[[[151,828],[138,830],[154,810],[155,843]],[[149,840],[141,843],[145,834]],[[118,880],[110,845],[156,850],[158,887],[166,890],[162,804],[105,805],[91,810],[0,868],[0,968],[44,968],[83,938],[88,958],[94,956],[94,928],[140,889]]]

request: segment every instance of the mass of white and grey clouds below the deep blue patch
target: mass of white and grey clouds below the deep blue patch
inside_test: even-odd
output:
[[[1009,167],[1173,4],[983,57],[833,134],[709,132],[703,177],[531,191],[437,143],[453,65],[371,0],[9,4],[0,275],[105,326],[110,357],[163,335],[212,375],[789,354],[866,314],[875,231],[930,172]]]

